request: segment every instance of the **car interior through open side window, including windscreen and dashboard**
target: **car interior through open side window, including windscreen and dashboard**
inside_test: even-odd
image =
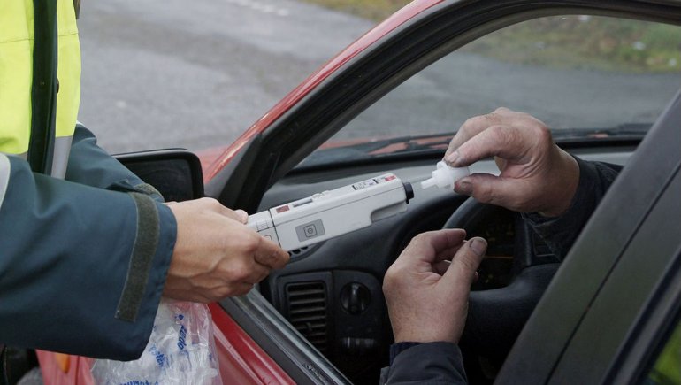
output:
[[[456,127],[498,106],[542,119],[558,145],[579,158],[624,166],[680,84],[670,58],[663,64],[669,68],[662,70],[627,66],[639,59],[609,54],[570,63],[577,56],[571,42],[588,34],[584,28],[594,23],[623,30],[655,29],[656,23],[585,15],[525,19],[459,50],[440,52],[432,65],[404,70],[396,77],[406,81],[358,98],[354,113],[318,128],[336,134],[321,145],[310,140],[317,150],[275,175],[257,212],[382,173],[394,173],[414,187],[408,211],[291,251],[290,263],[261,282],[259,293],[223,306],[237,320],[240,313],[243,320],[269,319],[272,328],[283,317],[308,343],[298,346],[299,358],[320,353],[349,381],[376,383],[392,343],[381,292],[388,266],[419,233],[465,228],[469,237],[485,237],[489,247],[472,288],[461,347],[469,381],[494,381],[561,261],[516,212],[446,189],[421,189],[420,181],[430,177]],[[511,42],[521,35],[522,44]],[[636,42],[611,43],[637,50]],[[480,53],[499,44],[523,52],[508,60]],[[546,61],[561,50],[564,62]],[[524,55],[531,59],[523,61]],[[472,165],[471,173],[499,172],[487,159]],[[286,328],[279,326],[279,332],[290,337]],[[327,365],[324,358],[317,365]]]

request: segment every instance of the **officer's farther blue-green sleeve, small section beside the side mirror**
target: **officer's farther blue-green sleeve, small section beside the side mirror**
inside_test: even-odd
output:
[[[139,192],[163,202],[157,189],[99,147],[95,135],[80,123],[73,133],[65,179],[101,189]]]

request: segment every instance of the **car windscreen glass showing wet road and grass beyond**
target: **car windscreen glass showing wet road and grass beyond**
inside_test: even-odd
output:
[[[680,46],[679,27],[654,22],[584,15],[524,21],[412,76],[322,149],[451,135],[466,119],[500,106],[554,130],[646,129],[681,85]]]

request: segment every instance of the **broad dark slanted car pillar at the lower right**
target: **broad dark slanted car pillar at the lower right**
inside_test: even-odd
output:
[[[603,198],[498,378],[642,382],[677,327],[681,94]]]

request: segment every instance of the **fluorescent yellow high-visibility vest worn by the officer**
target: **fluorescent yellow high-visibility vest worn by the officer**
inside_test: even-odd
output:
[[[57,1],[57,35],[59,92],[52,171],[63,176],[80,104],[80,44],[73,0]],[[0,1],[0,152],[28,150],[33,48],[33,2]]]

